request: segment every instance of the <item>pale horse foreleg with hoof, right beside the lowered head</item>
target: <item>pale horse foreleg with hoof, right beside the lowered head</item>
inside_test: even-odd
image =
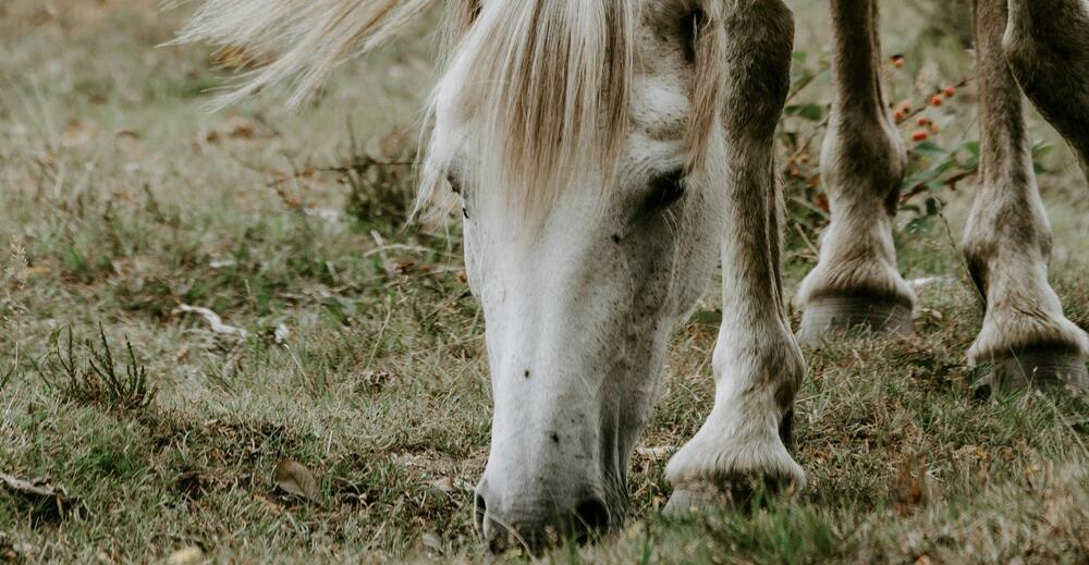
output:
[[[742,0],[727,27],[727,162],[723,183],[723,306],[712,367],[714,406],[670,462],[666,511],[745,505],[754,490],[797,490],[791,408],[805,373],[779,269],[781,213],[773,139],[790,88],[794,21],[780,0]]]

